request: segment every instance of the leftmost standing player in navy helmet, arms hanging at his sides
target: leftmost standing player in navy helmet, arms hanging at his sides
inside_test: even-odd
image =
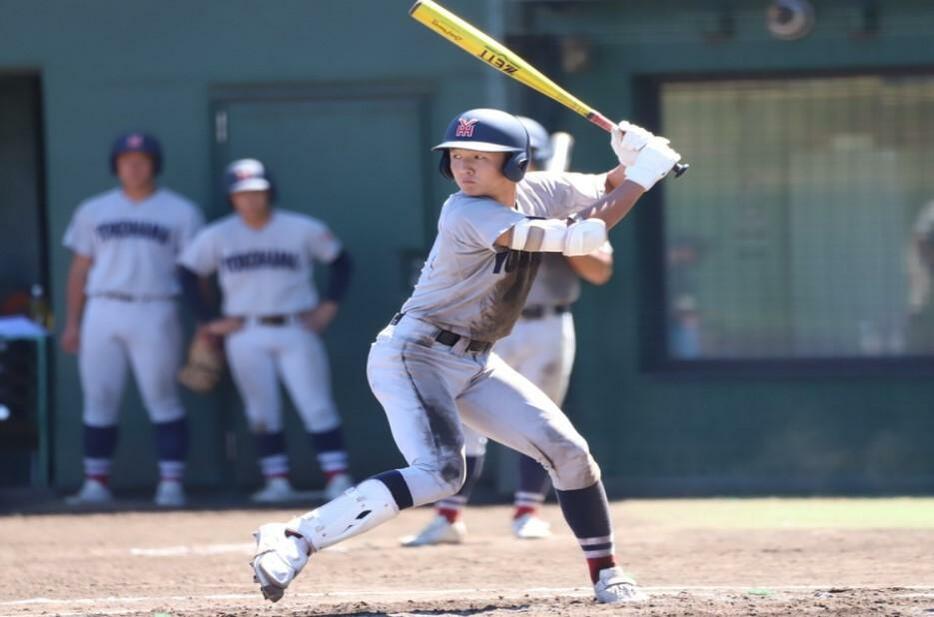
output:
[[[84,484],[66,501],[111,501],[108,488],[117,446],[117,420],[132,368],[155,428],[160,481],[155,503],[185,503],[182,476],[188,449],[185,410],[175,373],[181,330],[175,297],[175,259],[202,225],[190,201],[156,186],[162,148],[131,133],[110,155],[120,188],[82,203],[65,232],[72,251],[61,346],[78,354],[84,394]]]

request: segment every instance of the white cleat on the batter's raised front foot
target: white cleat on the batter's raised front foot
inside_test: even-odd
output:
[[[259,583],[263,597],[278,602],[296,575],[308,563],[308,544],[301,538],[287,536],[282,523],[268,523],[253,532],[256,554],[250,561],[253,581]]]

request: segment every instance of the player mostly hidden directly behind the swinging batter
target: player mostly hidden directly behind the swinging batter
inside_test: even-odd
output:
[[[527,171],[545,169],[554,150],[548,131],[541,124],[519,116],[529,134],[531,160]],[[561,155],[564,156],[561,156]],[[559,153],[565,163],[568,153]],[[526,306],[512,333],[496,343],[494,351],[506,364],[519,371],[556,405],[564,404],[571,367],[574,364],[575,336],[571,306],[580,297],[580,279],[594,285],[606,283],[613,271],[612,247],[607,243],[590,255],[565,256],[545,253]],[[464,427],[467,479],[456,494],[435,504],[435,516],[414,536],[402,539],[404,546],[459,544],[467,527],[461,519],[464,506],[483,471],[486,438]],[[539,515],[550,488],[548,473],[534,459],[519,455],[518,488],[512,519],[513,534],[523,540],[551,535],[548,523]]]

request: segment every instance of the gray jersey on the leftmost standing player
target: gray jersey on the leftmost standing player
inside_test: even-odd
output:
[[[81,203],[63,244],[93,260],[90,296],[170,297],[179,292],[175,259],[202,224],[201,211],[169,189],[140,202],[114,189]]]

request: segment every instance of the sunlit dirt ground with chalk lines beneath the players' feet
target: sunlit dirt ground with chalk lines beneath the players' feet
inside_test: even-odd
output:
[[[651,594],[591,599],[557,534],[520,542],[509,509],[468,511],[468,542],[403,549],[410,511],[315,555],[276,605],[251,583],[249,532],[294,511],[0,517],[7,615],[934,616],[934,500],[671,500],[613,504],[619,555]]]

